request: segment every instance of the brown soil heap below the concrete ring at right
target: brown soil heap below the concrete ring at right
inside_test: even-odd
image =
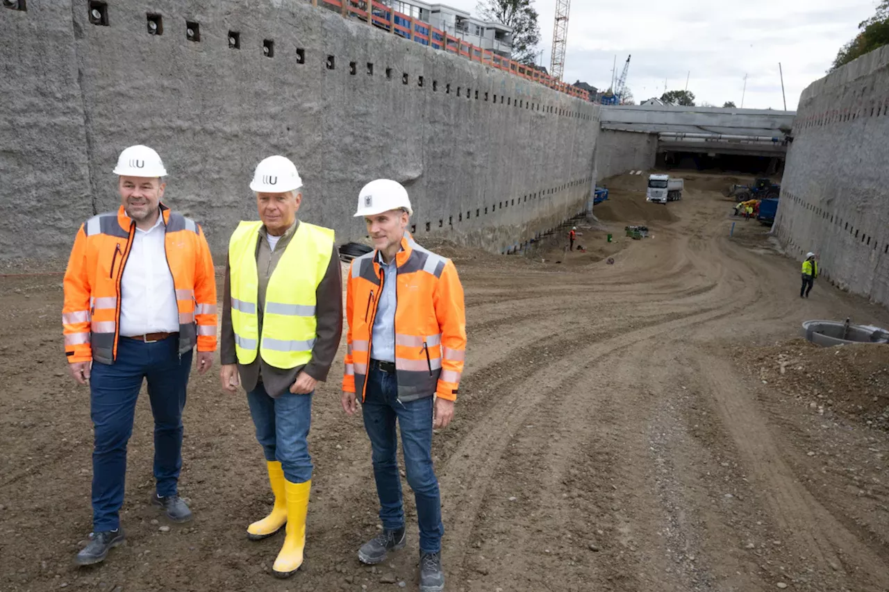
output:
[[[889,345],[820,348],[799,338],[735,355],[780,396],[889,430]]]

